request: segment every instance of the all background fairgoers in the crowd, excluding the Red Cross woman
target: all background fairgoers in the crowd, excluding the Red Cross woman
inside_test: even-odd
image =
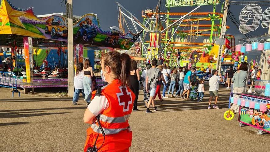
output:
[[[153,59],[151,64],[145,65],[145,70],[142,71],[140,76],[139,69],[137,68],[137,62],[131,60],[131,69],[129,72],[129,88],[135,94],[135,100],[133,103],[133,111],[137,111],[137,103],[139,90],[141,88],[140,83],[143,86],[143,99],[145,102],[146,113],[151,113],[150,106],[152,104],[153,110],[157,110],[155,105],[156,97],[160,102],[164,101],[169,97],[182,98],[197,102],[203,102],[203,97],[205,94],[204,80],[198,80],[197,74],[198,70],[196,67],[186,68],[186,67],[170,67],[166,64],[158,65],[158,61]],[[241,93],[245,89],[245,81],[247,79],[247,63],[242,63],[240,68],[229,67],[225,72],[227,89],[232,87],[232,92]],[[217,106],[218,102],[218,90],[219,83],[223,82],[221,74],[217,70],[212,70],[212,76],[209,79],[209,105],[208,109],[214,108],[219,109]],[[104,72],[101,70],[101,77]],[[75,92],[73,98],[73,104],[77,104],[79,99],[79,93],[83,94],[85,103],[88,105],[91,100],[91,94],[93,91],[93,68],[91,67],[90,61],[86,59],[84,63],[79,63],[76,68],[76,73],[74,77]],[[253,67],[251,72],[251,83],[253,86],[253,81],[256,78],[256,68]],[[106,81],[106,80],[104,80]],[[161,88],[163,90],[161,92]],[[162,95],[161,95],[162,93]],[[211,100],[214,97],[214,105],[211,107]],[[232,109],[238,112],[238,107],[232,105]]]

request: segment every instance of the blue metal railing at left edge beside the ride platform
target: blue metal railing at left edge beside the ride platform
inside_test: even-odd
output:
[[[19,97],[21,96],[17,90],[17,77],[13,72],[0,72],[0,87],[12,88],[12,97],[14,97],[14,92],[18,92]]]

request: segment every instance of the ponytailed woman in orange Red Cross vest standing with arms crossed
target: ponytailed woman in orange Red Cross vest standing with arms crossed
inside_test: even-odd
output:
[[[131,58],[128,54],[111,51],[102,57],[101,68],[102,80],[108,85],[102,87],[97,95],[96,91],[93,92],[91,103],[84,113],[84,123],[92,124],[87,129],[84,151],[90,151],[95,144],[95,151],[128,152],[132,140],[128,120],[135,99],[128,87]]]

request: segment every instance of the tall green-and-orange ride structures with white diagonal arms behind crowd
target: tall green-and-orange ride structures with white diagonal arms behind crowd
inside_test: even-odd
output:
[[[141,60],[149,62],[157,58],[159,64],[168,63],[171,66],[197,66],[213,69],[216,67],[219,45],[215,40],[219,38],[223,18],[223,4],[220,0],[166,0],[167,12],[161,12],[161,0],[156,9],[142,11],[143,22],[118,3],[119,27],[122,32],[125,27],[137,32],[143,28],[141,44]],[[163,4],[164,5],[164,4]],[[200,12],[203,5],[212,5],[213,12]],[[188,13],[170,12],[171,7],[196,6]],[[216,12],[216,6],[221,6],[221,12]],[[138,27],[139,26],[139,27]],[[226,26],[226,29],[229,29]],[[233,35],[225,36],[222,51],[223,64],[233,64],[241,57],[235,52]]]

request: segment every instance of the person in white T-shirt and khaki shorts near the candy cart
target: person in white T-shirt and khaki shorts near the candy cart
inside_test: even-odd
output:
[[[213,70],[212,74],[213,74],[213,76],[211,76],[211,78],[209,80],[210,98],[209,98],[208,109],[211,109],[211,100],[212,100],[213,96],[216,97],[213,109],[219,109],[219,107],[217,106],[217,103],[218,103],[218,88],[219,88],[219,82],[223,82],[223,80],[222,80],[221,74],[219,74],[219,76],[218,76],[218,70]]]

